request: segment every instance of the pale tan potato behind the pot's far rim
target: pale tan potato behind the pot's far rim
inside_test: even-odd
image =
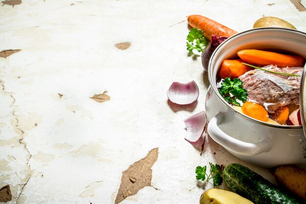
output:
[[[257,27],[286,27],[296,29],[291,23],[277,17],[263,17],[258,19],[253,25],[253,28]]]

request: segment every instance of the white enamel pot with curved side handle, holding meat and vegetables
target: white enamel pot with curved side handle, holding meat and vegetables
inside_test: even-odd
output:
[[[303,126],[275,125],[256,120],[235,110],[219,94],[216,82],[218,69],[224,59],[237,57],[236,53],[241,49],[285,50],[306,58],[306,33],[288,28],[255,28],[240,32],[217,47],[208,66],[210,87],[205,111],[209,136],[232,155],[257,166],[305,166],[306,137]],[[301,82],[303,124],[303,118],[306,118],[304,72],[305,69]]]

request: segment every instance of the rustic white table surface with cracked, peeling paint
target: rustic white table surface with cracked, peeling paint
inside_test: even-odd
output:
[[[204,110],[207,73],[188,56],[187,16],[238,32],[263,16],[306,32],[290,0],[4,0],[0,6],[0,201],[196,204],[197,165],[240,162],[184,119]],[[193,107],[168,102],[195,80]],[[225,188],[221,185],[220,188]]]

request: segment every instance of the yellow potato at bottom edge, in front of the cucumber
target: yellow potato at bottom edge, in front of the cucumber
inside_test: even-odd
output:
[[[254,204],[250,200],[228,190],[211,188],[200,198],[200,204]]]

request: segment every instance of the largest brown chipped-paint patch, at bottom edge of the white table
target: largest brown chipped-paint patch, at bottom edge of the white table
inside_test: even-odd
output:
[[[158,148],[151,150],[148,155],[133,163],[127,170],[122,172],[121,184],[117,193],[115,204],[129,196],[135,195],[145,186],[151,186],[152,166],[157,160]]]

